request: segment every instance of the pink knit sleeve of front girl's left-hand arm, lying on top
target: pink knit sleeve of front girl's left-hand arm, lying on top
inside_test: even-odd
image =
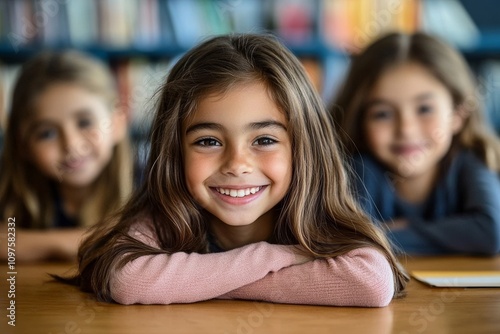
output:
[[[157,247],[155,239],[143,232],[136,230],[132,235]],[[111,296],[120,304],[191,303],[216,298],[268,273],[307,261],[293,248],[259,242],[223,253],[141,256],[112,273]]]

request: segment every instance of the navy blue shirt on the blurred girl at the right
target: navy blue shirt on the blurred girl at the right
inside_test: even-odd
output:
[[[381,223],[403,218],[389,232],[409,254],[494,254],[500,251],[500,181],[472,152],[458,153],[429,198],[418,205],[398,197],[390,173],[370,155],[353,158],[358,200]]]

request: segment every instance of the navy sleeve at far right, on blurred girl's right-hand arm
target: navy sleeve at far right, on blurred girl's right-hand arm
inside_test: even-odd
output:
[[[465,158],[458,177],[461,211],[433,221],[410,218],[409,229],[445,252],[492,255],[500,251],[500,182],[476,157]]]

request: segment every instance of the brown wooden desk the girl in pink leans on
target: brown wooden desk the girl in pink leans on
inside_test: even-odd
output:
[[[414,270],[500,270],[500,257],[403,263]],[[11,327],[7,270],[0,266],[0,333],[500,333],[498,288],[431,288],[412,281],[406,298],[378,309],[222,300],[121,306],[97,303],[74,287],[50,282],[47,272],[62,274],[71,266],[53,263],[16,266],[16,327]]]

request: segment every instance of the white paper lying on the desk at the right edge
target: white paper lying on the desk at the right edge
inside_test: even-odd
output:
[[[500,271],[413,271],[411,275],[436,287],[495,288],[500,287]]]

